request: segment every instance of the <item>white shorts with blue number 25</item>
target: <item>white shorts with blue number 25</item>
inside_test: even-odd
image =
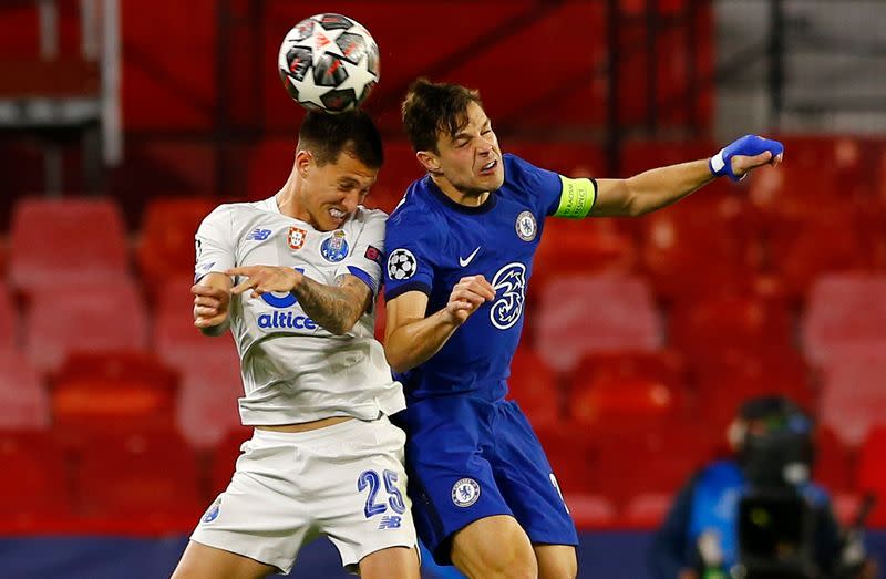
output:
[[[387,416],[300,433],[256,430],[190,538],[285,573],[320,535],[351,572],[378,550],[414,548],[404,441]]]

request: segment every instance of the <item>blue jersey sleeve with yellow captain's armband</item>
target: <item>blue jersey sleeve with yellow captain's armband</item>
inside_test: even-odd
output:
[[[535,192],[539,216],[580,219],[587,217],[597,200],[597,182],[591,178],[565,177],[514,157],[515,179],[527,190]]]

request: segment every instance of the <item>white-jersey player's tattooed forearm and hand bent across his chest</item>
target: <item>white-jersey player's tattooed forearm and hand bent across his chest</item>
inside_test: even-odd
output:
[[[336,335],[350,332],[372,302],[369,286],[351,275],[341,276],[338,286],[327,286],[285,267],[247,266],[225,273],[246,278],[231,289],[235,294],[248,290],[251,290],[253,298],[269,291],[293,293],[305,313]]]

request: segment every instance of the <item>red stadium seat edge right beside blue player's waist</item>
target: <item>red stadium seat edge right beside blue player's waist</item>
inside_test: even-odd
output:
[[[511,397],[517,401],[535,427],[556,425],[562,420],[557,376],[537,352],[521,347],[511,362],[507,379]]]

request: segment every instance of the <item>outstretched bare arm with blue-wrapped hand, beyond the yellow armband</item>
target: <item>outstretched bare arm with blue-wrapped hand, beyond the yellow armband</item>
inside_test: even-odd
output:
[[[777,141],[746,135],[710,159],[659,167],[627,179],[597,179],[597,199],[590,215],[637,216],[679,201],[722,175],[741,180],[763,165],[781,164],[784,146]]]

